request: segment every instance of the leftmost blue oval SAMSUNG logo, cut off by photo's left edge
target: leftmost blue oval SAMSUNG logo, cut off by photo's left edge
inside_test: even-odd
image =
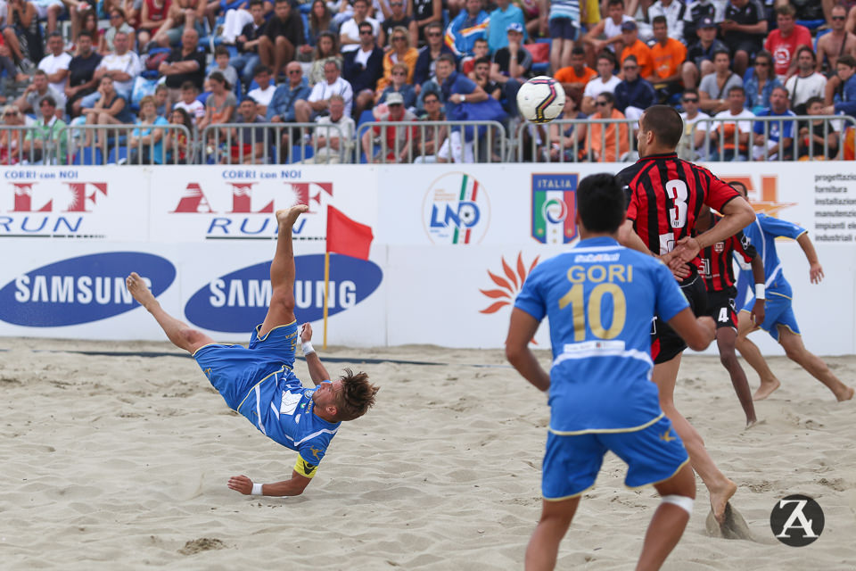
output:
[[[176,278],[169,260],[150,253],[106,252],[57,261],[0,289],[0,319],[27,327],[62,327],[110,318],[139,307],[125,277],[144,277],[155,296]]]

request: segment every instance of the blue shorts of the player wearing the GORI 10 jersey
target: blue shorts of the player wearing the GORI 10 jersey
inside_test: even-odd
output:
[[[547,435],[541,493],[547,501],[569,500],[595,484],[606,451],[627,463],[624,484],[637,488],[674,476],[689,461],[684,444],[665,416],[633,432]]]

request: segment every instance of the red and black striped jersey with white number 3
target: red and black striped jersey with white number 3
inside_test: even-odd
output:
[[[679,159],[675,153],[639,159],[618,176],[630,194],[627,218],[658,255],[671,252],[681,238],[692,236],[703,203],[721,212],[739,196],[710,170]]]

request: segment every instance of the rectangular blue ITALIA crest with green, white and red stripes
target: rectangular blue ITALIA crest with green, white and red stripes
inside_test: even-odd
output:
[[[568,244],[577,237],[579,178],[576,173],[532,175],[532,237],[541,244]]]

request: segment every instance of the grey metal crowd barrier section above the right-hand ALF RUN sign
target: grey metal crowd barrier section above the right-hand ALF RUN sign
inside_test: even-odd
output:
[[[339,125],[317,123],[229,123],[209,125],[202,131],[200,146],[202,164],[281,164],[317,162],[331,164],[350,162],[353,133]],[[249,137],[251,140],[247,141]],[[257,141],[256,138],[260,140]],[[338,137],[338,149],[319,145]],[[256,155],[255,145],[259,145]],[[247,147],[251,152],[248,153]]]

